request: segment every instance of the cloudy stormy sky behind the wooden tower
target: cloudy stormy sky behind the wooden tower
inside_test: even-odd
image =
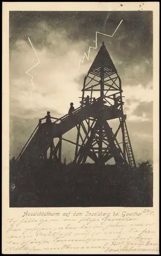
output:
[[[95,47],[96,31],[111,35],[122,19],[113,37],[98,35],[98,49],[90,51],[89,61],[77,72],[84,52]],[[69,102],[79,106],[84,75],[104,40],[122,79],[136,161],[152,159],[152,12],[12,11],[9,36],[11,156],[18,154],[48,109],[60,117],[68,111]],[[31,72],[32,99],[31,77],[25,72],[37,59],[28,37],[40,60]]]

